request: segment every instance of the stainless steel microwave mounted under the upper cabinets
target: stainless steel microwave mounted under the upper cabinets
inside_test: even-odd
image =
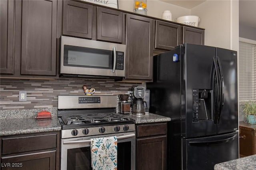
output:
[[[125,45],[61,36],[60,74],[124,77]]]

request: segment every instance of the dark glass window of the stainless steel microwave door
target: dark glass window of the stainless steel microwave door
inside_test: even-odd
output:
[[[112,69],[113,51],[64,45],[64,65]]]

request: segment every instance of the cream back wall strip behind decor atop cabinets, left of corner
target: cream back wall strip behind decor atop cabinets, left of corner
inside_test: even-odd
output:
[[[118,8],[121,10],[126,10],[133,12],[134,10],[134,0],[118,0]],[[147,14],[148,16],[162,18],[162,13],[165,10],[170,10],[172,13],[172,21],[180,16],[190,15],[190,10],[166,2],[161,2],[158,0],[147,0]]]

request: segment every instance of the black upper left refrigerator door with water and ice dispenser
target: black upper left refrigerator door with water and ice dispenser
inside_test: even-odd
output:
[[[182,136],[198,137],[217,134],[213,96],[215,88],[212,79],[216,48],[185,44],[185,62],[181,74]]]

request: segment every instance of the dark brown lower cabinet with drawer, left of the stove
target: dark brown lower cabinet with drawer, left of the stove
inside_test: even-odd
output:
[[[1,136],[2,170],[58,170],[60,132]]]

